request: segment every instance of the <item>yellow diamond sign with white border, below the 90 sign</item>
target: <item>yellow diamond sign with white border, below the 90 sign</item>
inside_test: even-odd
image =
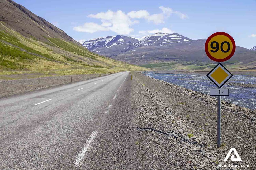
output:
[[[221,88],[232,76],[233,75],[220,63],[207,74],[207,77],[219,88]]]

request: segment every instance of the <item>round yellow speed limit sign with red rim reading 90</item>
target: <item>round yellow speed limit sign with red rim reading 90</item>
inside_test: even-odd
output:
[[[213,61],[227,61],[234,55],[235,50],[234,39],[225,32],[216,32],[205,42],[206,55]]]

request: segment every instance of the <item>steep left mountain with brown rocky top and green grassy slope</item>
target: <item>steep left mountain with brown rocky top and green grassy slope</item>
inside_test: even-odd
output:
[[[22,5],[0,0],[1,75],[10,74],[7,70],[63,75],[141,69],[94,54]]]

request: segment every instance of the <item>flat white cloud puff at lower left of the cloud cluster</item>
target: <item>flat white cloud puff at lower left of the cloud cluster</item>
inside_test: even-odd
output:
[[[106,28],[102,25],[93,23],[93,22],[85,23],[84,25],[74,27],[73,29],[75,31],[78,31],[78,32],[89,32],[89,33],[94,33],[94,32],[97,32],[97,31],[108,31],[109,30],[108,28]]]

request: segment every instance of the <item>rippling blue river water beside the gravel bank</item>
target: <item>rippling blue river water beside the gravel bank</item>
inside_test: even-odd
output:
[[[205,94],[209,94],[211,88],[217,88],[206,77],[206,74],[159,74],[156,72],[143,72],[143,74]],[[234,75],[228,82],[256,84],[256,77],[251,75]],[[222,96],[223,100],[256,110],[256,88],[235,87],[226,84],[222,88],[228,88],[230,91],[229,96]]]

